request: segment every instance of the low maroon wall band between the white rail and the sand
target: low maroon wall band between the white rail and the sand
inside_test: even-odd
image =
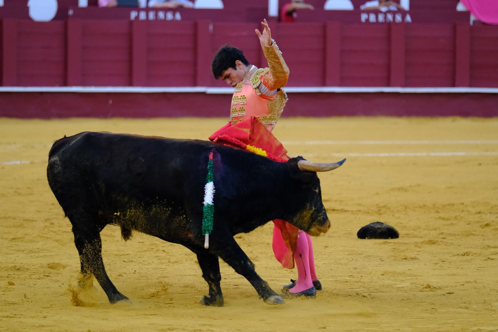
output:
[[[203,89],[197,89],[203,90]],[[498,116],[498,91],[299,92],[289,88],[282,116]],[[359,90],[365,90],[359,88]],[[424,89],[427,91],[431,89]],[[497,90],[497,89],[495,89]],[[294,92],[297,91],[297,92]],[[313,91],[313,90],[311,90]],[[346,90],[348,91],[348,90]],[[352,90],[355,91],[355,90]],[[450,92],[444,92],[450,91]],[[0,116],[228,116],[230,94],[207,92],[3,92]]]

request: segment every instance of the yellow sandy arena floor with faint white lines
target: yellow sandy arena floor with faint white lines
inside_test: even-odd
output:
[[[104,262],[132,304],[110,305],[96,281],[80,291],[46,179],[52,142],[85,130],[202,139],[224,123],[0,118],[0,330],[498,331],[498,118],[282,118],[274,133],[289,154],[348,158],[320,174],[332,228],[314,238],[316,299],[266,305],[222,263],[225,307],[200,306],[194,254],[139,233],[124,242],[116,226],[102,231]],[[399,239],[358,239],[373,221]],[[273,258],[271,229],[236,238],[279,292],[297,273]]]

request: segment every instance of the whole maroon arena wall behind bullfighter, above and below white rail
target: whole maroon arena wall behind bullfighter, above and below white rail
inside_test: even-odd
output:
[[[291,69],[287,115],[498,116],[497,26],[458,19],[314,23],[306,14],[300,17],[293,24],[271,23]],[[0,116],[226,115],[219,105],[226,105],[229,92],[212,78],[211,59],[231,43],[244,49],[252,64],[266,66],[253,32],[257,27],[206,19],[3,18]],[[118,89],[106,92],[106,87]],[[130,87],[144,90],[125,91]],[[154,92],[156,87],[172,90]],[[215,89],[207,92],[210,88]]]

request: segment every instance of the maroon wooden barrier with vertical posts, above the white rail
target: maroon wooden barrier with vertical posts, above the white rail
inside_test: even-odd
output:
[[[226,43],[266,66],[253,23],[1,22],[2,86],[213,86]],[[288,86],[498,87],[498,27],[274,23]]]

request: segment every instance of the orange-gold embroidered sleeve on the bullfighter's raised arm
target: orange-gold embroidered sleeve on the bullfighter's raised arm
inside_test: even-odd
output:
[[[270,46],[261,45],[266,61],[268,61],[269,71],[263,74],[265,85],[270,90],[282,88],[287,84],[289,78],[289,68],[285,63],[282,52],[278,49],[277,44],[272,39]]]

